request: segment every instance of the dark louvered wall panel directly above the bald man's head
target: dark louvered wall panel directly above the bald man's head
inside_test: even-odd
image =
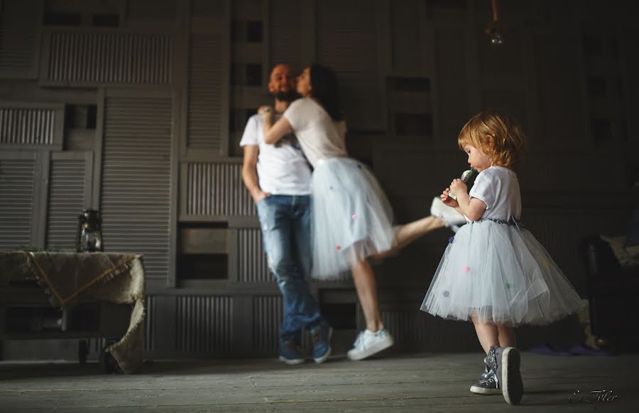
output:
[[[297,0],[271,1],[271,62],[302,69],[301,4]]]

